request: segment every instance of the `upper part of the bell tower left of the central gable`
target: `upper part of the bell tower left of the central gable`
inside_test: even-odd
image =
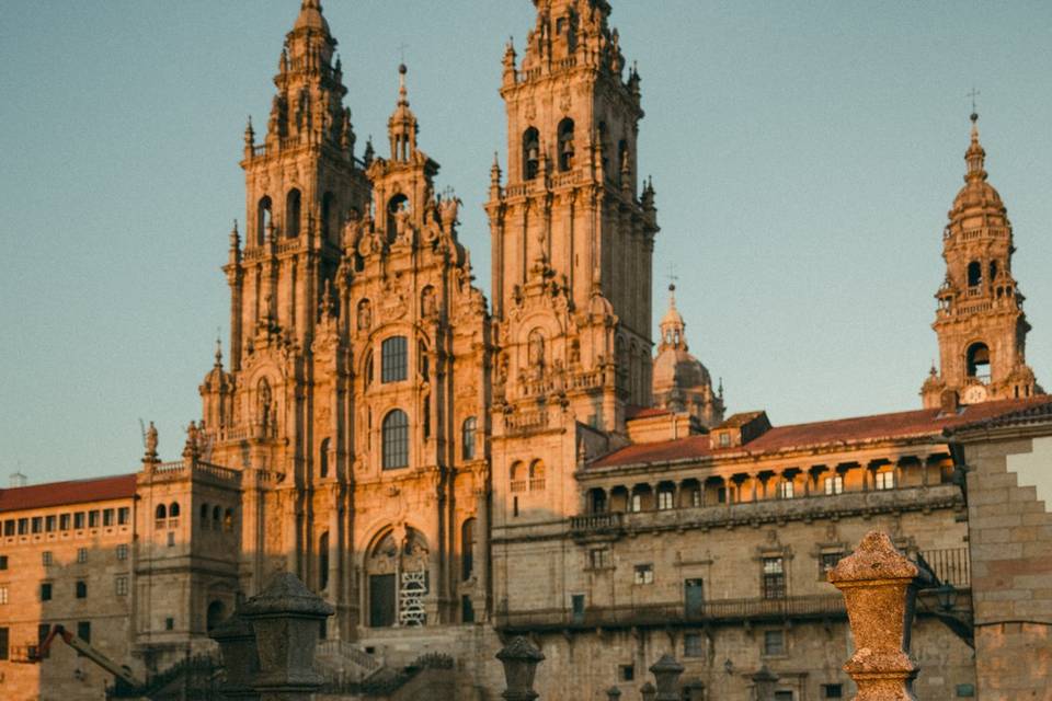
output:
[[[309,345],[339,266],[342,223],[368,198],[335,48],[321,3],[304,0],[278,60],[263,142],[251,120],[244,131],[244,249],[235,238],[226,268],[235,370],[259,333],[282,330]]]

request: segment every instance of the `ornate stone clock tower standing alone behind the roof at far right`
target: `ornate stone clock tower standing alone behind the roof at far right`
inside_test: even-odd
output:
[[[1000,195],[986,182],[986,151],[972,114],[972,142],[964,154],[964,187],[942,232],[946,280],[936,292],[939,367],[921,390],[926,407],[946,391],[963,403],[1030,397],[1040,392],[1027,366],[1024,296],[1011,275],[1011,223]]]

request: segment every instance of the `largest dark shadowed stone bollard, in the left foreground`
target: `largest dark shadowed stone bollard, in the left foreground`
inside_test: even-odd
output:
[[[252,624],[260,673],[253,688],[262,701],[309,701],[322,685],[315,671],[318,632],[333,608],[296,575],[276,575],[248,601],[241,616]]]

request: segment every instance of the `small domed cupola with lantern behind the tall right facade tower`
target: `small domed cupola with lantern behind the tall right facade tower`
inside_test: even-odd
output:
[[[723,390],[712,390],[712,377],[690,355],[685,334],[686,322],[676,309],[676,286],[668,286],[668,311],[661,320],[661,344],[654,360],[654,405],[674,412],[687,412],[706,428],[723,421]]]

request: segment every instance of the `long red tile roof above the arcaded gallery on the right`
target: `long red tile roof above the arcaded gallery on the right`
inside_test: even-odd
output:
[[[794,426],[776,426],[757,438],[737,448],[713,448],[709,436],[689,436],[663,443],[637,444],[616,450],[592,463],[594,468],[610,468],[629,464],[661,463],[710,456],[751,453],[761,456],[793,448],[828,444],[851,444],[879,439],[904,439],[930,437],[941,439],[942,430],[997,418],[1020,410],[1052,404],[1052,397],[1020,400],[1000,400],[962,406],[951,416],[944,416],[940,409],[922,409],[894,414],[876,414],[855,418],[823,421]]]

